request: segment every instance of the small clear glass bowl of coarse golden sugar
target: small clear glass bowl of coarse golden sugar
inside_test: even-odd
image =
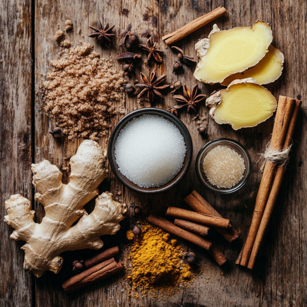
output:
[[[227,194],[237,191],[246,183],[251,173],[251,158],[237,141],[215,139],[199,151],[195,169],[208,189]]]

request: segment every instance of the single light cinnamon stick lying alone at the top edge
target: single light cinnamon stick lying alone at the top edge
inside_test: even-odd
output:
[[[188,34],[201,28],[202,26],[208,24],[209,22],[215,20],[216,18],[223,16],[225,13],[226,13],[226,8],[223,6],[219,6],[216,9],[212,10],[211,12],[185,24],[180,29],[164,35],[162,39],[165,41],[167,45],[171,45],[176,41],[182,39],[183,37],[187,36]]]

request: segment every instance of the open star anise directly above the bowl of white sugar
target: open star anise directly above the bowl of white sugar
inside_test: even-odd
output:
[[[160,93],[160,91],[169,87],[168,84],[160,85],[165,80],[165,78],[166,74],[161,75],[159,77],[155,77],[155,69],[153,70],[153,72],[151,72],[149,78],[147,78],[141,72],[141,79],[144,82],[144,84],[135,85],[136,87],[143,88],[143,90],[140,92],[137,98],[140,99],[143,95],[147,93],[147,98],[150,104],[153,104],[154,95],[162,98],[162,94]]]

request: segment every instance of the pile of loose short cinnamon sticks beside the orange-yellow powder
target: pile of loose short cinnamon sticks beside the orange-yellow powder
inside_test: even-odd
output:
[[[227,261],[224,254],[203,236],[209,233],[209,226],[212,226],[228,242],[236,240],[239,232],[195,190],[184,198],[184,202],[194,211],[168,207],[166,215],[176,217],[174,223],[153,214],[149,216],[148,221],[164,231],[205,249],[220,266],[223,265]]]

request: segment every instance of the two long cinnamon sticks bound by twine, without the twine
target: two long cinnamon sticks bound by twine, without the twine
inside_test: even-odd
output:
[[[302,102],[280,96],[269,149],[283,151],[292,144],[292,136]],[[282,184],[286,164],[276,164],[268,159],[259,186],[252,223],[241,253],[236,261],[241,266],[253,269],[261,241],[269,223]]]

